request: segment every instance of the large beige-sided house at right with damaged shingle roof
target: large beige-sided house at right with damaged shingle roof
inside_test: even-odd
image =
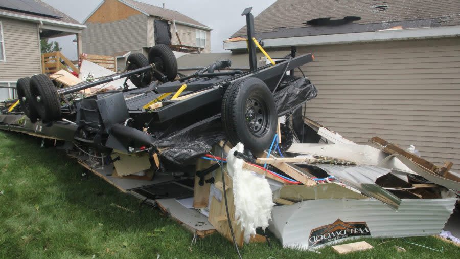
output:
[[[307,117],[357,143],[380,136],[460,169],[460,1],[279,0],[255,30],[268,53],[314,54],[302,67],[318,88]]]

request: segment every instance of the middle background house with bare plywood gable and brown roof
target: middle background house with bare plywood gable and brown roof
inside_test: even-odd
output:
[[[172,45],[173,50],[211,52],[210,27],[177,11],[142,2],[102,1],[83,23],[88,27],[83,32],[83,52],[116,56],[119,71],[125,67],[126,53],[147,55],[155,42]]]

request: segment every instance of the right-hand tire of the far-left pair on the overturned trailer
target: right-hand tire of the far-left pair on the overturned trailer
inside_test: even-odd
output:
[[[31,103],[42,121],[61,120],[61,101],[53,82],[47,75],[38,74],[30,79]],[[40,102],[37,101],[40,96]]]

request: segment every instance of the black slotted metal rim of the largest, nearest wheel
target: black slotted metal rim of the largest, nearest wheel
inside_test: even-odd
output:
[[[246,101],[246,126],[254,136],[262,136],[267,130],[268,111],[266,103],[259,98]]]

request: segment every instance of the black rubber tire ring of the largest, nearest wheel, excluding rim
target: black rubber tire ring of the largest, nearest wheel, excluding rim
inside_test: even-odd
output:
[[[252,96],[265,101],[268,118],[261,136],[255,136],[246,125],[246,102]],[[260,79],[248,77],[233,82],[222,99],[222,126],[228,141],[233,145],[243,143],[252,152],[263,152],[271,145],[277,131],[278,115],[273,95]]]

